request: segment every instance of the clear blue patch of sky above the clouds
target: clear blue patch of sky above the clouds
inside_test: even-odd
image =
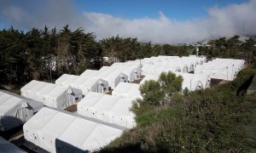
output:
[[[78,12],[88,11],[128,19],[157,18],[161,11],[173,20],[185,21],[207,17],[207,8],[225,7],[244,0],[74,0]]]

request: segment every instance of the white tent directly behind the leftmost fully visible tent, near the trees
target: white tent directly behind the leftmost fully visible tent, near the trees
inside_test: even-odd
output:
[[[89,92],[108,92],[108,82],[99,77],[82,77],[64,74],[55,81],[55,84],[78,88],[82,90],[84,95]]]

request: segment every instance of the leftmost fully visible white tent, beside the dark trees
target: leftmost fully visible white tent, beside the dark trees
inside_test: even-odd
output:
[[[20,93],[49,107],[61,109],[74,105],[77,100],[82,99],[82,91],[79,89],[35,80],[20,88]]]

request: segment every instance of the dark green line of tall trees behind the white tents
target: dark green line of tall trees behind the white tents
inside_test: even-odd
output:
[[[240,42],[238,36],[225,37],[200,47],[200,53],[211,57],[247,59],[253,63],[255,41]],[[79,75],[86,69],[102,65],[158,55],[185,56],[195,54],[193,46],[139,42],[133,37],[108,37],[96,40],[94,33],[79,28],[61,30],[32,28],[19,31],[12,26],[0,31],[0,83],[23,84],[32,79],[54,82],[62,74]],[[108,63],[103,57],[108,57]]]

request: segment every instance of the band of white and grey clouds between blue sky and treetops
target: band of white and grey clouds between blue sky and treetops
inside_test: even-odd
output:
[[[142,42],[197,42],[215,37],[232,37],[236,34],[256,34],[256,1],[241,4],[230,4],[224,8],[208,8],[208,17],[197,20],[179,22],[170,19],[160,12],[159,17],[125,19],[110,14],[84,12],[77,14],[73,3],[69,0],[48,0],[44,11],[30,13],[26,5],[16,7],[9,5],[2,9],[14,26],[38,27],[44,25],[61,28],[70,25],[72,28],[82,27],[85,31],[95,32],[98,39],[120,35],[121,37],[137,37]],[[59,2],[59,3],[58,3]]]

